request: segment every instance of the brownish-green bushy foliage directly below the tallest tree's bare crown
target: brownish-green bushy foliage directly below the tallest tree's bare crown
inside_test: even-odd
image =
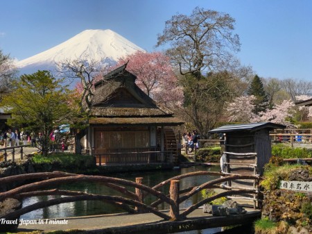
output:
[[[214,128],[223,117],[225,102],[232,96],[230,74],[209,73],[200,80],[194,76],[182,76],[180,83],[184,90],[184,119],[192,122],[202,137]],[[196,97],[196,98],[194,98]]]

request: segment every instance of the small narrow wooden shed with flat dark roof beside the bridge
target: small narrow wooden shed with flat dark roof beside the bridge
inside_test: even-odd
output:
[[[275,128],[286,128],[271,122],[252,124],[231,124],[221,126],[209,133],[225,133],[224,167],[225,174],[262,175],[263,167],[271,158],[271,138],[269,132]],[[227,183],[229,189],[257,189],[257,181],[236,180]],[[239,199],[252,199],[254,208],[257,197],[243,194]],[[237,198],[232,197],[232,198]]]

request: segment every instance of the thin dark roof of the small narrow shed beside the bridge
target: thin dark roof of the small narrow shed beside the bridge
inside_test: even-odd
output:
[[[263,128],[286,128],[285,125],[282,124],[274,124],[271,122],[261,122],[261,123],[252,123],[252,124],[229,124],[225,126],[221,126],[220,128],[213,129],[209,131],[209,133],[226,133],[226,132],[234,132],[234,131],[258,131]]]

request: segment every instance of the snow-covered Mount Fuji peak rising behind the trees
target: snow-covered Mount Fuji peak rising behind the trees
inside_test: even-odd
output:
[[[118,33],[107,30],[85,30],[69,40],[35,56],[20,60],[16,66],[20,74],[37,70],[55,70],[55,62],[84,59],[113,65],[116,61],[136,51],[144,51]]]

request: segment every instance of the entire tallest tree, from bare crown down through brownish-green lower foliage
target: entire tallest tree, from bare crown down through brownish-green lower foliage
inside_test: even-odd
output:
[[[239,90],[233,83],[250,74],[232,55],[241,46],[234,24],[228,14],[197,7],[189,16],[173,15],[158,35],[157,46],[170,44],[166,54],[182,75],[184,119],[202,137],[220,120],[225,99]]]

